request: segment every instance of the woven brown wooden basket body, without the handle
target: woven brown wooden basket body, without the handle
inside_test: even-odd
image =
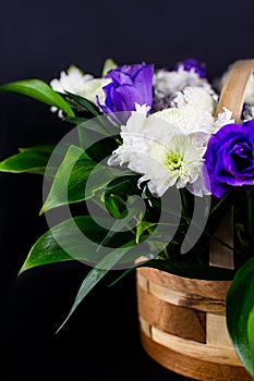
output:
[[[142,343],[157,362],[197,380],[252,380],[229,340],[225,299],[219,299],[219,311],[210,311],[218,302],[213,291],[226,296],[231,282],[191,280],[148,268],[136,274]]]

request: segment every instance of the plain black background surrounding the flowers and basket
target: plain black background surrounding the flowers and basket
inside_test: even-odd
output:
[[[9,0],[0,14],[1,84],[49,82],[70,64],[99,75],[108,57],[158,67],[194,57],[213,78],[237,59],[254,57],[253,0]],[[69,131],[46,106],[19,95],[0,95],[0,159],[21,146],[57,143]],[[0,174],[0,371],[9,374],[1,379],[185,380],[141,347],[134,273],[108,288],[110,273],[55,334],[88,269],[61,263],[16,279],[47,230],[40,207],[40,177]]]

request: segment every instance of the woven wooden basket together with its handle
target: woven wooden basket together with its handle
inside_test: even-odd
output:
[[[235,62],[221,91],[223,107],[239,121],[244,89],[254,60]],[[232,223],[227,216],[217,235],[232,246]],[[233,253],[210,242],[210,266],[233,268]],[[141,341],[147,354],[164,367],[193,378],[213,381],[253,380],[230,342],[225,299],[230,281],[204,281],[164,271],[136,271]]]

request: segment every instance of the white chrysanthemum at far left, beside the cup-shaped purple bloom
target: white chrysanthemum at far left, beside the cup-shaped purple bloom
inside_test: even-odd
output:
[[[76,66],[71,66],[68,72],[61,72],[59,79],[52,79],[50,86],[59,93],[69,91],[84,97],[96,103],[98,96],[101,105],[105,103],[102,87],[111,82],[109,78],[94,78],[90,74],[84,74]]]

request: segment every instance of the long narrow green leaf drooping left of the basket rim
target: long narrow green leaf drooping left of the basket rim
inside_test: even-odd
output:
[[[76,294],[75,300],[72,305],[72,308],[68,317],[64,319],[63,323],[60,325],[57,332],[59,332],[62,329],[62,327],[69,320],[69,318],[74,312],[76,307],[87,296],[87,294],[94,288],[94,286],[107,274],[107,272],[110,269],[112,269],[114,265],[117,265],[125,256],[125,254],[130,250],[130,244],[132,246],[134,242],[123,245],[122,247],[119,247],[119,249],[109,253],[105,258],[102,258],[98,262],[96,267],[94,267],[88,272],[88,274],[86,275],[85,280],[83,281]]]

